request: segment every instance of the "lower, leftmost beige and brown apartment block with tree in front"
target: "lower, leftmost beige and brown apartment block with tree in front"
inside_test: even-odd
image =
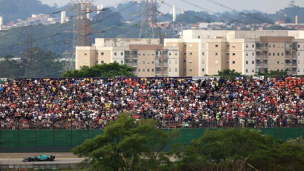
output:
[[[76,69],[114,62],[133,67],[138,77],[179,76],[179,48],[159,39],[96,38],[92,46],[76,47]]]

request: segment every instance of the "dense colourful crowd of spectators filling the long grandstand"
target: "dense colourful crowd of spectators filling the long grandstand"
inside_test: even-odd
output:
[[[0,81],[2,129],[102,129],[120,112],[160,128],[304,124],[304,79]]]

